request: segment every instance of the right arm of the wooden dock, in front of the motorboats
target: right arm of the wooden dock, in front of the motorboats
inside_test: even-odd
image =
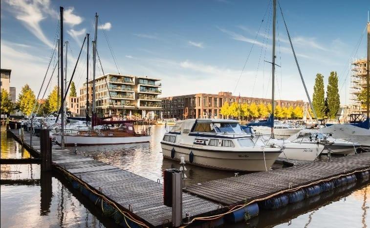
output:
[[[187,186],[186,191],[221,205],[239,205],[283,190],[369,168],[370,153],[362,153],[331,161],[305,162],[296,167],[193,184]]]

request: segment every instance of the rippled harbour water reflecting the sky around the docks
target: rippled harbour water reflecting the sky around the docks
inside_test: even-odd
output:
[[[160,140],[164,126],[152,127],[149,143],[84,146],[78,154],[100,160],[150,180],[163,182],[162,171],[178,168],[164,160]],[[1,128],[1,158],[30,158]],[[234,172],[186,165],[187,184],[234,176]],[[115,224],[62,177],[40,174],[37,164],[1,165],[1,227],[114,227]],[[260,210],[248,223],[225,227],[367,227],[370,225],[370,184],[354,183],[275,211]]]

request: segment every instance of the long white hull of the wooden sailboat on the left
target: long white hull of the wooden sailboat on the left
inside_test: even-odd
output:
[[[108,144],[128,144],[149,142],[150,136],[141,137],[90,137],[90,136],[70,136],[65,135],[65,145],[108,145]],[[61,136],[56,137],[58,144],[61,144]]]

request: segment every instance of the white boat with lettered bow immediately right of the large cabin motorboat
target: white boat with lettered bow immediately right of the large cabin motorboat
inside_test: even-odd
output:
[[[254,135],[253,127],[241,126],[243,131]],[[261,138],[266,145],[277,145],[284,149],[279,158],[289,160],[315,160],[324,150],[322,144],[305,144],[291,142],[287,139],[271,138],[270,136],[256,136]],[[255,138],[256,138],[255,137]]]

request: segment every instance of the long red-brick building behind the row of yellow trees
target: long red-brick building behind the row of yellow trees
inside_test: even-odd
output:
[[[231,92],[219,92],[218,94],[196,93],[182,96],[164,97],[162,99],[163,118],[222,118],[219,113],[225,102],[271,104],[271,99],[255,97],[233,96]],[[303,100],[289,101],[276,100],[275,105],[281,107],[307,107]],[[307,112],[305,112],[307,113]]]

